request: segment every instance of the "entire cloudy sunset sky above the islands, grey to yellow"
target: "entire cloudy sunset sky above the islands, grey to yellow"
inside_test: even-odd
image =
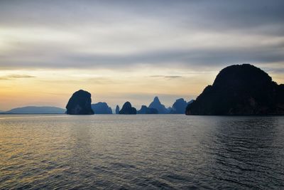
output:
[[[284,83],[283,0],[0,0],[0,110],[195,99],[222,68]]]

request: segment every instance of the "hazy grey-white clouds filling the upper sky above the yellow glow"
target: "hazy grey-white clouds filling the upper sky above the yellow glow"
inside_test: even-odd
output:
[[[284,63],[284,1],[1,1],[1,68]]]

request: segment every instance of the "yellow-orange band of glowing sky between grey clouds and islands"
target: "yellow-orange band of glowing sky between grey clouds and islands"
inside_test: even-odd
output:
[[[187,101],[197,97],[207,85],[213,83],[218,73],[217,70],[194,73],[158,68],[127,72],[94,69],[2,70],[0,110],[27,105],[65,107],[72,93],[80,89],[92,93],[92,102],[107,102],[111,107],[122,105],[126,100],[136,107],[148,105],[155,95],[159,95],[166,106],[171,106],[180,97]],[[283,83],[282,75],[273,74],[271,77],[275,82]]]

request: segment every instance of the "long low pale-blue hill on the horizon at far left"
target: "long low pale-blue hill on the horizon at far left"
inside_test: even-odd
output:
[[[16,107],[4,113],[13,114],[63,114],[65,109],[60,107],[50,107],[50,106],[26,106],[26,107]]]

